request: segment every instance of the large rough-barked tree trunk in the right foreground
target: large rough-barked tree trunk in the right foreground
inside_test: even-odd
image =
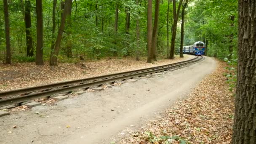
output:
[[[232,144],[256,144],[256,1],[239,0],[237,90]]]

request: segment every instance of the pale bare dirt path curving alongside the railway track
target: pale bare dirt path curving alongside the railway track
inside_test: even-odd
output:
[[[109,144],[143,126],[186,96],[216,68],[206,57],[190,67],[101,92],[87,92],[54,106],[0,117],[2,144]],[[39,113],[39,114],[36,114]],[[42,115],[40,117],[40,115]],[[16,125],[17,128],[13,128]]]

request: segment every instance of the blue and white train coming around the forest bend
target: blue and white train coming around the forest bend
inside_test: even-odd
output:
[[[195,42],[194,45],[184,46],[183,53],[202,56],[205,54],[205,43],[198,41],[198,42]]]

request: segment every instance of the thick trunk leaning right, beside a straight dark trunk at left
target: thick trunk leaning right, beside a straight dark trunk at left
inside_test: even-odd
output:
[[[61,48],[61,37],[64,32],[64,25],[65,25],[65,20],[67,17],[67,11],[68,11],[69,7],[71,7],[71,5],[72,5],[72,3],[70,3],[70,1],[71,0],[65,0],[64,11],[63,11],[62,17],[61,17],[61,24],[59,27],[59,32],[57,35],[54,51],[53,51],[53,53],[51,53],[51,57],[50,57],[50,65],[51,66],[57,66],[57,59],[58,59],[57,56],[59,55],[59,50]]]

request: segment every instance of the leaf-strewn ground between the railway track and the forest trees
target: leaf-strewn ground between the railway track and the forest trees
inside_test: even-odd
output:
[[[86,68],[76,67],[73,63],[60,63],[58,67],[50,67],[48,62],[45,62],[43,66],[36,66],[35,63],[0,64],[0,92],[155,67],[185,61],[194,57],[191,55],[184,56],[184,58],[177,56],[174,60],[160,59],[153,64],[146,63],[146,59],[136,61],[131,57],[85,61],[83,63]]]

